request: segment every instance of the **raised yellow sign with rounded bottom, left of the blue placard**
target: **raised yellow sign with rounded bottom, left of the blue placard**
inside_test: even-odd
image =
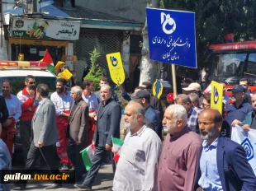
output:
[[[115,84],[122,84],[125,82],[126,74],[121,61],[120,53],[107,54],[107,65],[112,81]]]

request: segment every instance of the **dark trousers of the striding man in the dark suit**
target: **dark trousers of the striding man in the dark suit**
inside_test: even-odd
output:
[[[84,185],[87,185],[88,187],[92,188],[92,184],[96,178],[98,170],[100,170],[102,166],[102,162],[107,156],[107,152],[109,152],[109,155],[111,156],[112,170],[113,170],[113,174],[115,174],[116,162],[112,160],[113,153],[111,151],[107,151],[105,147],[96,146],[95,154],[92,157],[92,167],[88,171],[86,178],[83,180]]]

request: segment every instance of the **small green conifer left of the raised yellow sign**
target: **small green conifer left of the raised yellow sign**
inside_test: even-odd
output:
[[[91,80],[95,86],[95,91],[100,90],[99,81],[103,76],[102,70],[97,67],[97,59],[101,57],[101,54],[97,49],[93,49],[90,54],[91,68],[88,75],[83,80]]]

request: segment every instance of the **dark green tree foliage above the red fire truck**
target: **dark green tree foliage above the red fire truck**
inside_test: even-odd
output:
[[[235,41],[256,38],[256,0],[161,0],[160,7],[196,12],[199,67],[206,58],[208,46],[225,43],[225,34],[233,33]]]

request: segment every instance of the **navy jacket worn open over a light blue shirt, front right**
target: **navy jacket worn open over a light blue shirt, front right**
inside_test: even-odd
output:
[[[200,149],[201,156],[202,147]],[[220,182],[224,191],[249,191],[256,189],[256,177],[254,170],[247,161],[244,148],[238,143],[226,137],[219,137],[217,146],[217,168]],[[198,163],[199,164],[199,163]],[[201,177],[200,165],[197,166],[197,174],[194,183],[196,190],[198,180]]]

